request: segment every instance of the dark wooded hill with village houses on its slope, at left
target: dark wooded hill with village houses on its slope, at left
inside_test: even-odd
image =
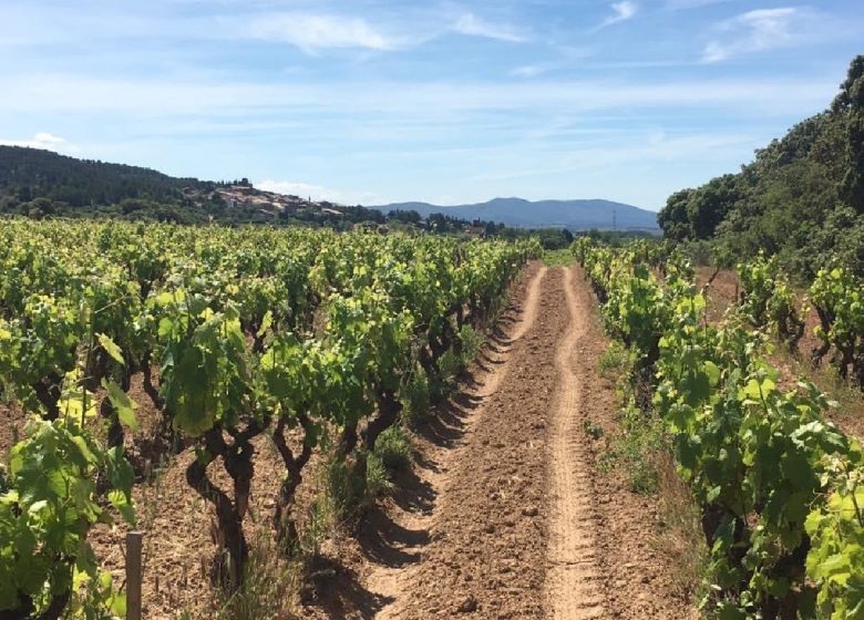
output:
[[[178,178],[138,166],[0,146],[0,214],[119,218],[178,224],[312,225],[348,229],[381,224],[376,210],[311,202],[233,182]]]

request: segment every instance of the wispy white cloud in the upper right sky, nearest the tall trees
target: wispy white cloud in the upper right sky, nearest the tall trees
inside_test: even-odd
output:
[[[810,16],[812,17],[812,16]],[[703,62],[719,62],[753,52],[794,44],[796,33],[813,33],[804,23],[809,16],[801,9],[759,9],[741,13],[718,24],[720,37],[710,41],[702,53]]]

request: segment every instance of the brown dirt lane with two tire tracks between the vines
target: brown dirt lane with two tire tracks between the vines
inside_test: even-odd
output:
[[[360,529],[353,570],[376,604],[357,617],[692,617],[648,540],[656,500],[595,467],[584,422],[616,430],[604,349],[576,268],[529,269],[467,389],[421,432],[414,478]]]

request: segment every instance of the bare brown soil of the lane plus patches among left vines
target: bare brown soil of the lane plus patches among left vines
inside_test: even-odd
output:
[[[414,468],[358,524],[329,533],[302,600],[286,609],[316,619],[695,617],[656,544],[659,499],[597,466],[620,433],[615,385],[598,369],[607,344],[580,271],[532,265],[460,392],[416,433]],[[155,412],[140,413],[154,426]],[[141,443],[133,451],[146,453]],[[215,616],[210,515],[184,479],[191,458],[183,451],[161,469],[154,458],[155,475],[135,489],[147,619]],[[267,438],[255,467],[247,527],[268,536],[281,468]],[[315,493],[310,475],[298,503]],[[92,534],[119,578],[123,536]]]

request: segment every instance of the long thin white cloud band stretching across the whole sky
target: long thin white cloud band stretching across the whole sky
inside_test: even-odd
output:
[[[632,83],[611,80],[544,80],[514,82],[356,81],[340,89],[321,83],[263,84],[188,80],[106,80],[73,74],[7,76],[9,97],[0,113],[117,113],[143,118],[214,115],[255,122],[275,107],[319,115],[369,114],[434,118],[456,112],[565,107],[730,108],[753,113],[802,114],[829,100],[833,76],[809,79],[676,80]],[[351,96],[344,96],[350,92]]]

